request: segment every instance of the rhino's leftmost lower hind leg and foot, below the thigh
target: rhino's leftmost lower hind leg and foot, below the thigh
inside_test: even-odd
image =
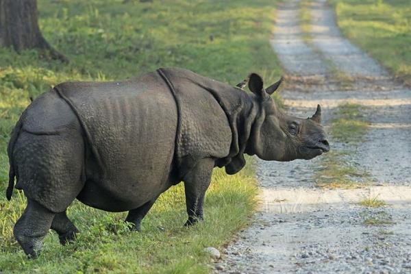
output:
[[[32,199],[27,199],[27,208],[14,225],[14,237],[30,258],[37,258],[42,240],[51,227],[55,213]]]

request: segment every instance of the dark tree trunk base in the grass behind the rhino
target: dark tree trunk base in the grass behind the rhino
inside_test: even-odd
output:
[[[37,0],[0,0],[0,47],[43,49],[51,58],[67,62],[67,58],[55,51],[38,28]]]

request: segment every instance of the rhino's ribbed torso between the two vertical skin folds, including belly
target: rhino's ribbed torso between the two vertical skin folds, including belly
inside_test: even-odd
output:
[[[56,88],[77,113],[92,151],[81,201],[108,211],[130,210],[171,186],[177,108],[157,73]]]

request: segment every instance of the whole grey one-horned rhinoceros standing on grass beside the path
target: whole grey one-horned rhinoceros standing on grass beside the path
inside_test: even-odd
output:
[[[203,219],[214,167],[228,174],[245,156],[312,159],[329,151],[321,108],[299,119],[277,108],[251,73],[247,93],[185,69],[158,69],[123,82],[66,82],[36,98],[21,114],[8,145],[6,192],[24,191],[27,208],[14,236],[36,257],[51,228],[60,242],[77,228],[66,208],[78,199],[109,212],[128,211],[140,222],[155,200],[184,182],[188,221]]]

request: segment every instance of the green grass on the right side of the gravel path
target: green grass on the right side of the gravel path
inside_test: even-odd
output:
[[[331,0],[343,34],[411,84],[411,5],[408,0]]]

